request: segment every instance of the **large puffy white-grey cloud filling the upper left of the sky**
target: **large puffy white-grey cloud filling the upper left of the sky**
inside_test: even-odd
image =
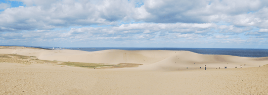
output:
[[[114,25],[118,20],[128,20],[131,12],[131,5],[127,1],[20,2],[28,6],[4,10],[0,14],[0,26],[15,30],[34,30],[94,24]],[[32,4],[36,6],[30,6]]]

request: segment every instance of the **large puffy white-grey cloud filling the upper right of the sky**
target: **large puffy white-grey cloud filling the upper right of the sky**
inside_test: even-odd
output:
[[[232,16],[265,7],[264,1],[163,1],[148,0],[132,18],[155,23],[209,23],[230,21]]]

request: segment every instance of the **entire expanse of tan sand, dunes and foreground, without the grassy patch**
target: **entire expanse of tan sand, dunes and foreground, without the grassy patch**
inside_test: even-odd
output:
[[[0,54],[64,62],[143,64],[135,68],[93,69],[51,63],[0,63],[0,94],[268,94],[268,66],[263,66],[268,64],[268,57],[22,47],[0,49]]]

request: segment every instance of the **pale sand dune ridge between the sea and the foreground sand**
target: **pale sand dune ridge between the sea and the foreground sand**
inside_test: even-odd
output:
[[[247,58],[229,55],[202,55],[189,51],[123,51],[105,50],[85,52],[77,50],[42,50],[32,48],[0,49],[0,54],[18,54],[35,56],[40,60],[86,62],[86,63],[137,63],[143,64],[137,68],[143,70],[185,70],[258,67],[268,64],[268,57]],[[244,64],[246,64],[244,66]]]

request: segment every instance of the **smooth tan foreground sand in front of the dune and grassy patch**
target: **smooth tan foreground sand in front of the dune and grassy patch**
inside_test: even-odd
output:
[[[268,66],[141,71],[0,65],[0,94],[268,94]]]

